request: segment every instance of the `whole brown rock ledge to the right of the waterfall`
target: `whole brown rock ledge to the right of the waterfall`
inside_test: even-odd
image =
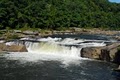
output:
[[[118,59],[120,59],[120,57],[118,58],[118,55],[120,55],[120,51],[118,52],[119,45],[118,43],[113,43],[104,47],[86,47],[81,50],[81,57],[111,62],[116,59],[118,62]]]

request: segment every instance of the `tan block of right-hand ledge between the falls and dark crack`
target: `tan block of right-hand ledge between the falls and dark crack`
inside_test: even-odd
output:
[[[81,57],[100,59],[101,48],[100,47],[86,47],[81,50]]]

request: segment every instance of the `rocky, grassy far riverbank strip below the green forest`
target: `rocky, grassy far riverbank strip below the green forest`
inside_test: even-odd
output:
[[[120,31],[103,30],[103,29],[84,29],[84,28],[69,28],[65,30],[0,30],[0,39],[19,39],[24,37],[46,37],[51,35],[64,35],[64,34],[93,34],[93,35],[108,35],[120,40],[118,34]]]

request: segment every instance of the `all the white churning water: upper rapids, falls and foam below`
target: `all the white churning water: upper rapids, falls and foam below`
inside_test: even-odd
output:
[[[23,38],[21,40],[34,40]],[[37,42],[26,41],[24,45],[28,52],[10,52],[6,58],[23,62],[60,61],[62,64],[79,64],[80,52],[83,47],[105,46],[104,41],[88,41],[75,38],[40,38]],[[23,42],[22,42],[23,43]],[[22,44],[21,42],[7,42],[6,45]]]

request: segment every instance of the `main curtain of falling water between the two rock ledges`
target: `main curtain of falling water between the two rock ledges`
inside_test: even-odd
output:
[[[38,54],[60,54],[69,56],[80,56],[80,47],[62,46],[54,42],[26,43],[28,52]]]

